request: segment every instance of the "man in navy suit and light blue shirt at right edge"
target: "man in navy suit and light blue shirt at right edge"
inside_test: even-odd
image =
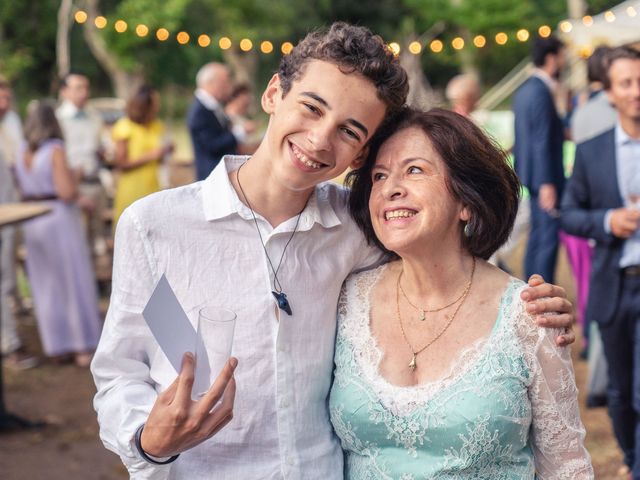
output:
[[[587,318],[598,322],[609,365],[613,430],[640,479],[640,52],[609,54],[613,129],[578,145],[562,199],[562,228],[593,238]]]

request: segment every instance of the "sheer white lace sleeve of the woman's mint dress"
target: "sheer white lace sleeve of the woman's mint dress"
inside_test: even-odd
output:
[[[530,368],[529,400],[532,409],[532,449],[537,478],[573,480],[594,478],[591,457],[584,447],[570,349],[558,347],[559,329],[539,328],[517,304],[516,325]]]

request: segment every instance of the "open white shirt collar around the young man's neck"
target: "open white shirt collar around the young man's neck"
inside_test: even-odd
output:
[[[231,185],[229,173],[237,170],[249,159],[243,155],[225,155],[211,174],[202,181],[202,208],[207,221],[214,221],[237,214],[245,220],[253,219],[251,210],[240,201]],[[302,213],[298,230],[309,230],[315,223],[324,228],[341,225],[330,198],[331,187],[327,183],[317,185]]]

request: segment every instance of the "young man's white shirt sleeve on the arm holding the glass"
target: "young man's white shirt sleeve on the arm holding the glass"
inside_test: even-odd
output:
[[[113,284],[109,310],[91,372],[97,387],[94,408],[100,438],[120,456],[131,478],[165,479],[171,465],[152,465],[135,447],[134,435],[149,416],[157,392],[150,357],[155,342],[142,310],[155,285],[148,242],[131,208],[116,229]]]

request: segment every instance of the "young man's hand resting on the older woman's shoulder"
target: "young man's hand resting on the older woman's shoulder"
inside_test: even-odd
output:
[[[564,329],[564,333],[556,338],[559,346],[575,342],[573,305],[567,300],[564,288],[546,283],[540,275],[531,275],[528,284],[520,294],[526,302],[527,313],[540,327]]]

